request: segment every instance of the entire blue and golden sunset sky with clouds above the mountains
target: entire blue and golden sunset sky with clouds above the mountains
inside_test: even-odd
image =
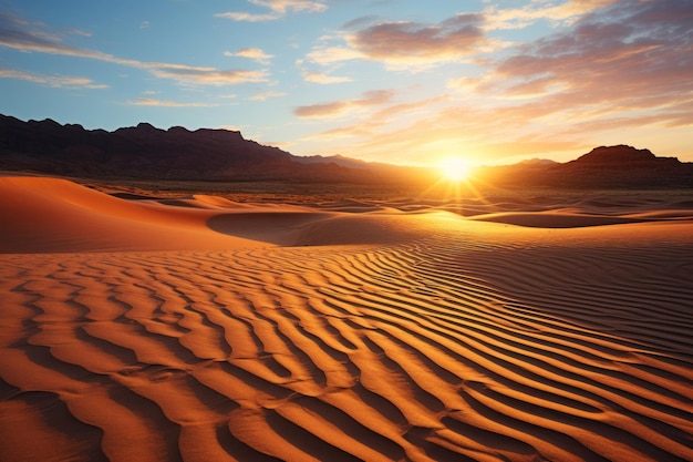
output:
[[[693,162],[693,0],[0,0],[0,113],[403,165]]]

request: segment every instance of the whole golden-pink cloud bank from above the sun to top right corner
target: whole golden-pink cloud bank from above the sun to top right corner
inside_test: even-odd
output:
[[[486,74],[451,75],[448,88],[459,92],[449,103],[404,116],[401,105],[386,105],[304,140],[319,140],[321,151],[348,146],[360,158],[426,164],[453,153],[490,163],[568,160],[597,143],[651,143],[655,129],[690,135],[693,9],[678,0],[582,6],[570,25],[505,50]]]

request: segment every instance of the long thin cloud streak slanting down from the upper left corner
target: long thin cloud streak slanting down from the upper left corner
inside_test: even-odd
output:
[[[23,52],[75,57],[144,69],[158,78],[173,79],[188,84],[219,86],[242,82],[262,82],[267,78],[267,71],[219,70],[209,66],[146,62],[70,47],[63,44],[55,37],[33,29],[27,21],[3,12],[0,12],[0,47]]]

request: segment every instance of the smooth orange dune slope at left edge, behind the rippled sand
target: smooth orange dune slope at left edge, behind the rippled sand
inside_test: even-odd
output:
[[[0,177],[1,251],[236,248],[209,230],[210,213],[124,201],[56,178]]]

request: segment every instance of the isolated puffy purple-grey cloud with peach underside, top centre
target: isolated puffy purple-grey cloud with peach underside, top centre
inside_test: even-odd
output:
[[[395,68],[431,66],[464,60],[487,43],[482,14],[457,14],[437,24],[380,22],[342,34],[346,47],[318,49],[308,58],[320,64],[364,59]]]

